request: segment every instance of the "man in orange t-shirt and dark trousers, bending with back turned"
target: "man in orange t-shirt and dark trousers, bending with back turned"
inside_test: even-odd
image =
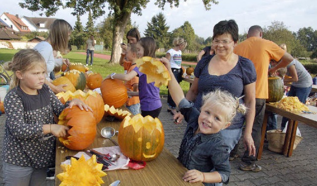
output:
[[[261,128],[264,119],[265,99],[268,98],[268,72],[275,72],[280,67],[285,67],[292,62],[293,57],[281,49],[275,43],[262,39],[263,30],[261,26],[250,27],[247,39],[234,48],[234,53],[250,59],[256,68],[256,115],[252,127],[252,137],[256,147],[256,154],[259,152],[261,140]],[[268,70],[270,60],[280,61],[275,67]],[[233,152],[234,153],[234,152]],[[240,169],[244,171],[261,171],[261,166],[255,164],[256,156],[249,156],[248,150],[241,158]]]

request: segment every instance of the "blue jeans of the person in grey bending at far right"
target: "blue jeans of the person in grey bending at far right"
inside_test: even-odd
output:
[[[309,93],[312,90],[312,85],[310,87],[295,87],[291,86],[289,91],[287,92],[287,96],[296,96],[298,97],[299,101],[302,103],[306,103],[306,99],[309,95]],[[281,123],[281,129],[283,130],[285,128],[286,122],[288,122],[288,118],[283,117],[282,123]]]

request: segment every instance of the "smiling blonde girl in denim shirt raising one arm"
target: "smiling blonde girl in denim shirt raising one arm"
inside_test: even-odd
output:
[[[188,123],[177,158],[189,169],[183,176],[184,181],[203,182],[206,186],[227,184],[230,176],[229,147],[219,131],[230,125],[237,111],[245,114],[247,108],[230,93],[215,90],[204,96],[200,112],[185,98],[168,60],[161,58],[160,61],[171,74],[169,92]]]

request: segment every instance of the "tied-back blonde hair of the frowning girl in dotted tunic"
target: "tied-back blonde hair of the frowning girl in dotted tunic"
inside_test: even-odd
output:
[[[11,62],[4,63],[4,69],[13,72],[10,82],[10,89],[19,85],[19,78],[17,78],[15,74],[16,71],[21,71],[23,73],[39,64],[42,64],[46,71],[46,62],[44,58],[39,52],[33,49],[20,50],[13,56]]]

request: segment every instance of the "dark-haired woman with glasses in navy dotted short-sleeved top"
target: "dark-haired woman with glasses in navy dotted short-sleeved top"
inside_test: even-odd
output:
[[[238,143],[242,126],[246,122],[244,146],[249,149],[250,155],[255,156],[256,149],[251,132],[255,116],[257,74],[254,64],[249,59],[233,53],[238,37],[238,25],[234,20],[220,21],[213,27],[212,46],[215,54],[198,62],[194,71],[194,83],[186,94],[186,99],[193,101],[195,107],[200,109],[203,95],[218,88],[230,92],[236,98],[244,96],[239,101],[248,107],[246,115],[237,114],[231,125],[220,133],[230,147],[230,152]],[[174,116],[174,119],[177,117],[179,115]],[[181,120],[182,117],[177,121],[180,123]]]

